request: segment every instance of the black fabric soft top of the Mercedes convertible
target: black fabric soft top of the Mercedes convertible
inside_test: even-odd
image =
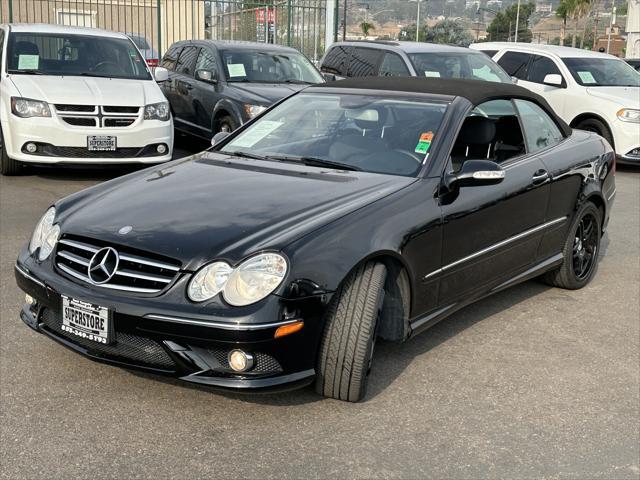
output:
[[[347,78],[336,82],[314,85],[326,88],[353,88],[363,90],[390,90],[396,92],[433,93],[451,97],[463,97],[474,106],[499,98],[521,98],[541,106],[553,117],[565,136],[571,135],[571,127],[562,120],[547,101],[531,90],[512,83],[485,82],[483,80],[465,80],[459,78],[427,77],[359,77]]]

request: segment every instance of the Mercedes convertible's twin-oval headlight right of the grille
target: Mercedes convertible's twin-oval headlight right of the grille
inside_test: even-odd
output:
[[[230,305],[242,307],[262,300],[273,292],[287,274],[287,261],[277,253],[261,253],[235,269],[224,262],[202,267],[189,282],[187,295],[203,302],[222,292]]]

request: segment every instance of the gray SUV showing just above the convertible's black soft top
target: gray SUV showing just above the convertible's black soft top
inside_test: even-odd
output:
[[[320,62],[320,71],[346,77],[441,77],[512,83],[486,55],[463,47],[419,42],[338,42]]]

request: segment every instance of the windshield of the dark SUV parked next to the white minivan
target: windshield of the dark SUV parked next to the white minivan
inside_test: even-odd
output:
[[[315,67],[300,53],[234,49],[223,50],[220,55],[230,82],[322,82]]]

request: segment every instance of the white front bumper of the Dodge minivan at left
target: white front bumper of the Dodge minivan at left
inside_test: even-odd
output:
[[[172,121],[137,119],[124,128],[90,128],[68,125],[56,114],[51,118],[11,116],[2,131],[8,156],[26,163],[151,164],[171,160],[173,150]],[[115,136],[116,151],[89,151],[87,137],[94,135]],[[26,151],[29,142],[38,146],[35,154]],[[155,151],[159,144],[167,147],[164,154]]]

